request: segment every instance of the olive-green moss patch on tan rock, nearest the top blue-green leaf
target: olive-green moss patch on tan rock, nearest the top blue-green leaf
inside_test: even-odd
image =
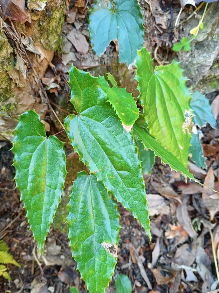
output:
[[[47,8],[46,15],[39,20],[40,41],[46,50],[61,52],[64,18],[61,6],[51,10]]]

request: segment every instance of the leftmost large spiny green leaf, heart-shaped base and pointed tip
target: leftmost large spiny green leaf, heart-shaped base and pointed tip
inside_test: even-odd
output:
[[[64,188],[65,149],[56,136],[46,137],[39,115],[29,110],[19,118],[12,150],[17,188],[41,253]]]

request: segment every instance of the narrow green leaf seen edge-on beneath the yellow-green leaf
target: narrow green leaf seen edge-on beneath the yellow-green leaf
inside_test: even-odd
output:
[[[151,137],[143,127],[140,127],[137,122],[133,125],[133,132],[137,135],[137,138],[142,141],[145,148],[154,151],[155,156],[160,157],[164,164],[169,164],[173,170],[180,171],[184,176],[195,180],[194,176],[183,165],[183,163],[181,163],[172,153],[162,147],[161,144]]]

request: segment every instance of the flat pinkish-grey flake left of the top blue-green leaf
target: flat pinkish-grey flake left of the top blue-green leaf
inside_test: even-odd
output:
[[[86,54],[89,50],[89,44],[84,35],[75,28],[67,35],[67,39],[72,42],[78,52]]]

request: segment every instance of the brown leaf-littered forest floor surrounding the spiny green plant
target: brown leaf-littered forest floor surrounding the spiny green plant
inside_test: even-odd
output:
[[[145,46],[149,51],[156,50],[153,57],[157,64],[168,64],[175,58],[170,44],[173,39],[174,42],[180,39],[180,30],[183,29],[173,29],[173,21],[180,6],[170,6],[166,2],[145,0],[140,3],[145,17]],[[62,32],[63,53],[55,54],[42,79],[60,120],[63,120],[66,112],[73,111],[68,103],[70,90],[66,82],[67,71],[72,62],[80,69],[90,70],[93,75],[110,71],[119,86],[127,86],[130,92],[136,87],[136,81],[133,81],[134,70],[128,70],[117,62],[116,43],[111,42],[100,58],[92,51],[88,34],[88,9],[93,2],[89,1],[87,6],[84,0],[69,3],[69,16],[65,19]],[[181,18],[187,18],[190,13],[191,10],[183,11]],[[77,38],[72,41],[72,36],[76,34]],[[159,49],[156,49],[155,44],[159,44]],[[215,100],[215,105],[219,105],[218,94],[215,91],[207,98],[210,102]],[[134,95],[137,96],[138,93]],[[58,122],[52,121],[49,115],[46,115],[45,121],[50,126],[48,133],[54,134],[60,130]],[[207,123],[201,130],[206,169],[198,168],[192,162],[189,169],[202,183],[219,191],[218,124],[217,129],[213,129]],[[0,292],[67,293],[70,286],[77,287],[79,292],[86,292],[86,285],[80,280],[76,263],[71,258],[67,226],[64,224],[67,215],[65,205],[72,181],[76,178],[75,173],[86,168],[78,161],[78,155],[69,145],[67,136],[63,133],[57,136],[65,142],[69,173],[58,215],[51,226],[45,251],[40,258],[25,218],[23,203],[20,202],[20,193],[15,189],[11,144],[0,149],[0,239],[7,243],[10,253],[21,265],[21,268],[8,265],[11,281],[0,277]],[[144,179],[152,242],[150,243],[144,229],[132,217],[131,212],[119,205],[122,229],[116,271],[128,275],[133,292],[136,293],[200,293],[215,290],[217,276],[213,249],[219,255],[217,193],[206,190],[195,182],[186,183],[183,176],[165,166],[159,158],[156,158],[152,173],[144,174]],[[213,231],[214,240],[211,239],[210,231]],[[115,277],[116,274],[106,290],[107,293],[115,292]]]

